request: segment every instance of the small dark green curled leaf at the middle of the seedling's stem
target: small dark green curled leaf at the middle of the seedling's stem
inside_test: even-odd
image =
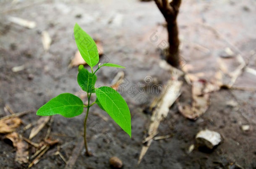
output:
[[[95,93],[94,85],[96,80],[97,76],[85,68],[81,69],[77,75],[77,83],[87,93]]]

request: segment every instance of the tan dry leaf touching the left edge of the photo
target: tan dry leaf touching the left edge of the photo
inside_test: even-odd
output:
[[[0,120],[0,133],[6,134],[13,132],[21,122],[21,119],[18,117]]]

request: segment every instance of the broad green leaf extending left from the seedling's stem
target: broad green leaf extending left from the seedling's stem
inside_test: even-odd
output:
[[[64,117],[74,117],[83,113],[84,103],[80,98],[71,94],[63,93],[52,98],[37,111],[38,116],[52,116],[61,114]]]

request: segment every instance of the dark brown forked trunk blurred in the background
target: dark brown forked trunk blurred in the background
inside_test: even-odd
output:
[[[181,0],[154,0],[157,4],[157,7],[164,15],[167,22],[167,31],[168,31],[168,42],[169,49],[166,56],[166,60],[170,65],[179,67],[179,38],[178,38],[178,25],[177,25],[177,16],[179,13],[179,8]]]

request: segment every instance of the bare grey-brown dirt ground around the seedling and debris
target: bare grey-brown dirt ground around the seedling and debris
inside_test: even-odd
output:
[[[36,22],[27,29],[11,23],[15,16]],[[145,111],[159,93],[128,93],[127,101],[132,116],[132,138],[120,129],[99,107],[93,106],[87,124],[89,149],[94,156],[87,157],[82,149],[74,169],[110,168],[109,159],[118,156],[124,169],[235,169],[239,164],[245,169],[256,169],[256,1],[255,0],[183,0],[178,24],[180,53],[183,70],[202,74],[212,81],[219,70],[220,53],[230,48],[246,62],[234,88],[222,88],[210,94],[211,104],[196,121],[182,116],[177,104],[170,108],[167,118],[159,126],[159,134],[172,134],[171,138],[153,141],[138,165],[142,140],[149,127],[151,113]],[[145,77],[165,85],[171,78],[162,68],[160,49],[165,46],[167,33],[165,20],[153,1],[138,0],[1,0],[0,1],[0,116],[9,105],[16,112],[32,110],[21,116],[23,124],[16,130],[28,138],[31,129],[24,126],[37,121],[36,111],[60,93],[73,93],[85,100],[76,82],[77,67],[68,68],[77,47],[73,26],[78,23],[93,38],[102,41],[104,55],[100,62],[109,61],[125,66],[125,84],[146,84]],[[47,31],[52,38],[49,51],[44,51],[41,34]],[[160,48],[160,49],[159,49]],[[222,59],[227,71],[238,66],[234,58]],[[24,70],[13,72],[15,66]],[[86,67],[88,68],[88,67]],[[97,73],[98,84],[110,84],[120,71],[102,68]],[[230,78],[226,78],[227,83]],[[188,99],[190,86],[185,83],[181,99]],[[188,96],[188,98],[186,98]],[[95,98],[95,96],[93,96]],[[228,101],[236,106],[227,106]],[[104,121],[95,113],[107,117]],[[81,144],[85,114],[66,119],[54,116],[50,138],[60,140],[60,153],[66,160],[73,149]],[[248,131],[241,129],[249,125]],[[47,133],[45,126],[32,141],[39,143]],[[202,129],[219,132],[223,141],[212,151],[196,147],[195,136]],[[28,164],[15,161],[16,149],[0,135],[0,168],[20,169]],[[65,168],[65,162],[54,155],[52,146],[31,169]],[[33,153],[29,147],[29,156]],[[236,166],[238,168],[238,166]]]

